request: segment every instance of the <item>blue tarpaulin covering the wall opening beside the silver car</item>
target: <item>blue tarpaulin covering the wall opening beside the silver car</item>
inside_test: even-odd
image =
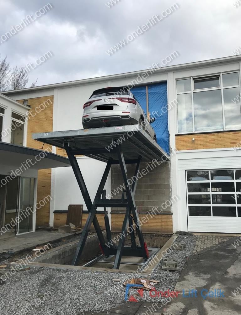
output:
[[[142,106],[147,114],[147,95],[146,86],[134,87],[131,92]],[[168,131],[168,113],[167,105],[167,84],[161,82],[148,85],[148,111],[150,116],[156,118],[152,127],[155,130],[157,143],[166,152],[170,153],[169,131]]]

